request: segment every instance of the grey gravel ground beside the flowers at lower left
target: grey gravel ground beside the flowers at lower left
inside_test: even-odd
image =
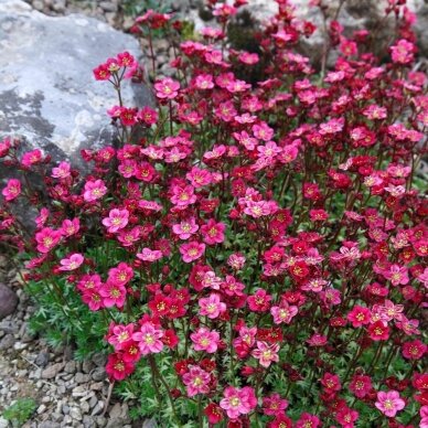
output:
[[[8,283],[19,298],[14,313],[0,321],[0,415],[15,400],[33,398],[36,409],[22,428],[154,426],[150,421],[131,424],[128,404],[114,397],[107,405],[105,355],[76,362],[71,347],[50,349],[30,332],[28,321],[34,307],[4,255],[0,255],[0,282]],[[0,428],[9,426],[0,417]]]

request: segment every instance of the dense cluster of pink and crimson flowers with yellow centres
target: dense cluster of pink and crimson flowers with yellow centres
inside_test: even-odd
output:
[[[277,2],[256,53],[226,44],[245,1],[212,0],[223,30],[181,43],[175,77],[153,85],[156,108],[122,105],[122,81],[140,73],[129,53],[95,68],[119,94],[108,115],[120,147],[84,150],[90,175],[0,142],[4,164],[39,172],[55,202],[10,179],[0,236],[35,252],[29,278],[63,275],[88,310],[106,312],[111,381],[149,365],[172,407],[199,403],[200,424],[428,427],[428,206],[415,186],[428,97],[427,76],[411,71],[415,17],[388,1],[387,64],[367,31],[347,39],[328,22],[339,56],[320,78],[296,49],[313,25]],[[137,28],[171,20],[148,12]],[[244,81],[242,66],[261,58],[264,78]],[[40,206],[31,243],[17,199]],[[163,355],[173,387],[157,368]]]

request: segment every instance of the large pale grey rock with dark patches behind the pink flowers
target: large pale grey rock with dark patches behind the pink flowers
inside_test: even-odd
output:
[[[111,143],[106,110],[117,104],[92,69],[138,42],[79,14],[47,17],[20,0],[0,0],[0,136],[24,137],[55,160],[82,165],[82,148]],[[125,104],[150,104],[143,85],[125,85]]]

